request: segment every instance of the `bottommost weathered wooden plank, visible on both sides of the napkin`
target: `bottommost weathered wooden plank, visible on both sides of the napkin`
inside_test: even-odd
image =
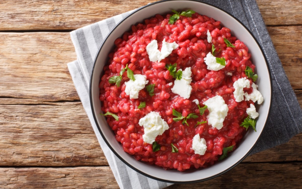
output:
[[[168,171],[167,171],[168,172]],[[239,164],[227,173],[199,183],[168,188],[301,188],[302,163]],[[129,183],[130,184],[130,183]],[[3,188],[119,188],[109,167],[0,168]]]

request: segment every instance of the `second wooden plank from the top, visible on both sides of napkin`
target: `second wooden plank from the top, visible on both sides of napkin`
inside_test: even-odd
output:
[[[294,90],[301,89],[301,30],[302,26],[268,27]],[[0,38],[0,96],[79,100],[66,65],[76,59],[69,33],[0,33]]]

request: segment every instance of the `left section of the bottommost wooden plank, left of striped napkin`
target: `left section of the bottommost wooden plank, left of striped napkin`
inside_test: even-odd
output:
[[[0,168],[0,188],[119,188],[109,167]]]

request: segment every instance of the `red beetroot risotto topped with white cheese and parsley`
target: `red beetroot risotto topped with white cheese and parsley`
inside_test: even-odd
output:
[[[193,10],[155,15],[114,41],[99,84],[102,111],[125,152],[165,169],[204,168],[255,129],[248,47]]]

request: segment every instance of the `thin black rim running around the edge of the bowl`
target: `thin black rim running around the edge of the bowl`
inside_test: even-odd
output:
[[[241,161],[243,161],[249,154],[250,152],[255,148],[257,142],[259,141],[259,139],[261,138],[262,134],[263,134],[263,130],[265,129],[267,123],[268,123],[268,117],[271,115],[271,108],[272,108],[272,98],[273,98],[273,83],[272,83],[272,77],[271,77],[271,69],[270,69],[270,66],[268,64],[268,60],[267,60],[267,57],[265,56],[265,53],[261,47],[261,45],[259,44],[259,42],[256,40],[256,37],[252,34],[252,32],[249,30],[249,28],[247,28],[239,19],[237,19],[235,16],[231,15],[230,13],[228,13],[227,11],[223,10],[222,8],[220,7],[217,7],[215,5],[212,5],[210,3],[207,3],[207,2],[201,2],[201,1],[198,1],[198,0],[182,0],[182,1],[192,1],[192,2],[199,2],[199,3],[202,3],[202,4],[206,4],[206,5],[210,5],[214,8],[217,8],[219,9],[220,11],[223,11],[224,13],[230,15],[231,17],[233,17],[236,21],[238,21],[248,32],[249,34],[253,37],[254,41],[257,43],[259,49],[261,50],[262,52],[262,56],[264,57],[265,59],[265,64],[268,68],[268,73],[269,73],[269,78],[270,78],[270,85],[271,85],[271,99],[270,99],[270,105],[269,105],[269,108],[268,108],[268,116],[265,120],[265,123],[264,123],[264,126],[263,126],[263,129],[259,135],[259,137],[257,138],[257,140],[255,141],[255,144],[252,146],[252,148],[243,156],[243,158],[239,159],[235,164],[233,164],[232,166],[230,166],[229,168],[227,168],[226,170],[218,173],[218,174],[215,174],[215,175],[212,175],[210,177],[207,177],[207,178],[204,178],[204,179],[199,179],[199,180],[194,180],[194,181],[169,181],[169,180],[165,180],[165,179],[161,179],[161,178],[157,178],[157,177],[153,177],[135,167],[133,167],[132,165],[130,165],[127,161],[125,161],[120,155],[118,155],[118,153],[111,147],[111,145],[109,144],[109,142],[107,141],[106,137],[104,136],[103,132],[101,131],[101,128],[100,128],[100,125],[98,125],[98,121],[97,121],[97,118],[96,118],[96,115],[95,115],[95,112],[94,112],[94,106],[93,106],[93,100],[92,100],[92,78],[93,78],[93,73],[94,73],[94,69],[95,69],[95,65],[96,65],[96,61],[98,59],[98,55],[100,54],[100,51],[102,49],[102,47],[104,46],[104,43],[107,41],[108,37],[111,35],[111,33],[124,21],[126,20],[127,18],[129,18],[131,15],[135,14],[136,12],[146,8],[146,7],[149,7],[149,6],[152,6],[152,5],[155,5],[155,4],[158,4],[158,3],[162,3],[162,2],[172,2],[174,0],[161,0],[161,1],[157,1],[157,2],[153,2],[153,3],[149,3],[147,5],[144,5],[140,8],[137,8],[136,10],[134,10],[133,12],[131,12],[129,15],[127,15],[125,18],[123,18],[121,21],[119,21],[115,26],[114,28],[111,29],[111,31],[107,34],[107,36],[104,38],[104,41],[102,42],[101,46],[99,47],[98,49],[98,52],[97,54],[95,55],[95,60],[93,62],[93,67],[92,67],[92,71],[91,71],[91,76],[90,76],[90,83],[89,83],[89,99],[90,99],[90,107],[91,107],[91,110],[92,110],[92,115],[93,115],[93,119],[95,121],[95,124],[98,128],[98,132],[101,134],[102,138],[104,139],[105,143],[107,144],[107,146],[110,148],[110,150],[122,161],[124,162],[128,167],[132,168],[134,171],[137,171],[138,173],[140,174],[143,174],[144,176],[146,177],[149,177],[149,178],[152,178],[152,179],[155,179],[157,181],[162,181],[162,182],[168,182],[168,183],[173,183],[173,184],[189,184],[189,183],[196,183],[196,182],[201,182],[201,181],[207,181],[207,180],[210,180],[212,178],[215,178],[215,177],[218,177],[220,176],[221,174],[224,174],[226,173],[227,171],[231,170],[232,168],[234,168],[236,165],[238,165]]]

